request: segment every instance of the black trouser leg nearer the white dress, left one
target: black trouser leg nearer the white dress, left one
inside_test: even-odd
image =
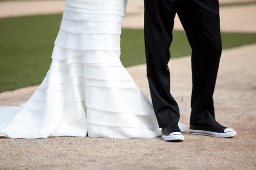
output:
[[[179,107],[170,94],[167,66],[176,14],[174,0],[144,0],[147,78],[160,128],[179,122]]]

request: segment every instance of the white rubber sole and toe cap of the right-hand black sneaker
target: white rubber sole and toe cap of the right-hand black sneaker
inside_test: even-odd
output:
[[[207,135],[207,136],[214,136],[214,137],[232,137],[237,135],[237,132],[235,130],[224,132],[224,133],[218,133],[218,132],[211,132],[211,131],[189,129],[189,133],[195,134],[195,135]]]

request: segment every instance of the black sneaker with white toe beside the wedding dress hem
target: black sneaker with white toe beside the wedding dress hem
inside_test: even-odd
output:
[[[162,128],[162,138],[164,141],[183,141],[184,136],[178,124],[169,125]]]

